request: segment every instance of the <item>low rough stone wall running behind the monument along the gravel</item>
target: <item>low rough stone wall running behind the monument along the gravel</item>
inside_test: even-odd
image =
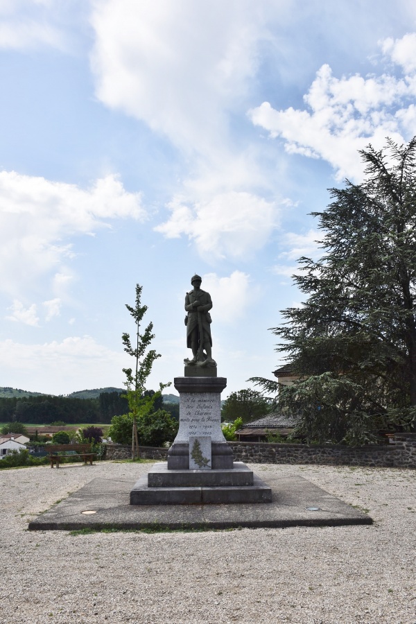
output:
[[[347,447],[342,445],[270,444],[229,442],[238,462],[254,464],[325,464],[333,466],[378,466],[416,468],[416,433],[397,433],[395,444]],[[106,444],[105,459],[128,459],[130,445]],[[166,461],[168,449],[139,447],[140,456]]]

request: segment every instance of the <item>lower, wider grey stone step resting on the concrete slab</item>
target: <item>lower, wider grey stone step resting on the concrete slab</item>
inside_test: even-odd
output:
[[[149,487],[147,475],[130,491],[130,505],[216,505],[271,503],[272,490],[254,475],[254,485],[222,487]]]

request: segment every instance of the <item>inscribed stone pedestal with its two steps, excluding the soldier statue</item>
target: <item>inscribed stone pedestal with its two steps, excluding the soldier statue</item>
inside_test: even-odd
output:
[[[180,395],[179,431],[168,461],[155,464],[131,490],[130,505],[271,503],[270,487],[245,464],[233,462],[221,430],[220,395],[227,379],[184,376],[174,383]],[[190,442],[192,462],[202,463],[200,469],[189,469]]]

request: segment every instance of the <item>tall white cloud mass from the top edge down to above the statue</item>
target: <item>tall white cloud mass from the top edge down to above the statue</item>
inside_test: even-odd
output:
[[[276,226],[275,203],[263,198],[272,191],[259,154],[241,140],[234,144],[230,119],[239,112],[244,119],[259,43],[270,38],[268,17],[285,4],[94,4],[96,95],[147,123],[187,159],[188,177],[156,229],[168,238],[188,236],[205,257],[256,252]]]

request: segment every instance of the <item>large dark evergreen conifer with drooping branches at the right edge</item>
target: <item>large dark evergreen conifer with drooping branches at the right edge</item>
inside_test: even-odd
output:
[[[379,428],[416,424],[416,137],[360,154],[365,181],[331,189],[333,202],[312,213],[324,254],[300,259],[306,301],[272,330],[300,376],[279,405],[300,416],[309,441],[362,444]]]

